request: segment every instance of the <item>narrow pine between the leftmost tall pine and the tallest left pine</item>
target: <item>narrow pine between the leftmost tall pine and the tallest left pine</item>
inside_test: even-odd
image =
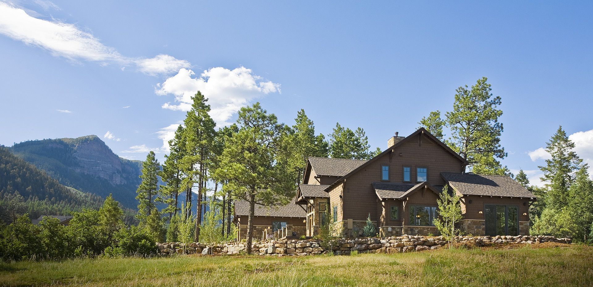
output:
[[[169,221],[177,215],[179,194],[182,192],[181,180],[183,179],[181,159],[185,152],[185,139],[183,126],[179,125],[175,131],[173,139],[168,141],[169,154],[165,155],[165,162],[162,164],[162,170],[158,175],[166,183],[159,189],[158,202],[165,203],[167,207],[161,210],[161,213],[169,213]]]

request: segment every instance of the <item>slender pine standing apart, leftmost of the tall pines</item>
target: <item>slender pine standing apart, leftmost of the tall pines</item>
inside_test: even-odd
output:
[[[139,202],[138,219],[140,221],[146,219],[146,216],[150,215],[155,208],[154,196],[158,192],[157,172],[159,169],[154,151],[148,152],[146,160],[142,162],[142,174],[140,175],[142,181],[140,186],[138,186],[138,190],[136,190],[136,193],[138,193],[136,199]]]

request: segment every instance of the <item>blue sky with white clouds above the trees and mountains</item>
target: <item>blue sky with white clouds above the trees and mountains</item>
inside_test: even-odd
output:
[[[162,158],[199,88],[221,125],[260,101],[385,148],[487,76],[503,164],[537,181],[559,125],[593,158],[590,2],[220,2],[0,0],[0,144],[94,134]]]

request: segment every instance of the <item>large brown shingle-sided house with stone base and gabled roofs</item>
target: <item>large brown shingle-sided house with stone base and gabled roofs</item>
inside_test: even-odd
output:
[[[527,235],[528,208],[535,196],[508,176],[464,173],[466,165],[423,128],[405,138],[393,136],[388,148],[368,161],[311,157],[295,201],[258,208],[254,235],[261,238],[265,233],[260,231],[277,229],[287,235],[316,235],[326,208],[347,237],[361,235],[368,216],[382,236],[437,234],[436,200],[445,185],[461,196],[459,227],[464,232]],[[239,238],[246,235],[247,218],[248,205],[235,203]]]

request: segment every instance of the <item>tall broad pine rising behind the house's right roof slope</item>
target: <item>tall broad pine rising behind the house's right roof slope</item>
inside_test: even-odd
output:
[[[471,88],[465,85],[455,90],[453,110],[446,114],[445,122],[451,130],[447,145],[469,162],[468,168],[474,173],[510,174],[499,161],[507,155],[500,145],[503,128],[498,121],[502,116],[498,106],[502,101],[493,96],[486,81],[483,77]]]

